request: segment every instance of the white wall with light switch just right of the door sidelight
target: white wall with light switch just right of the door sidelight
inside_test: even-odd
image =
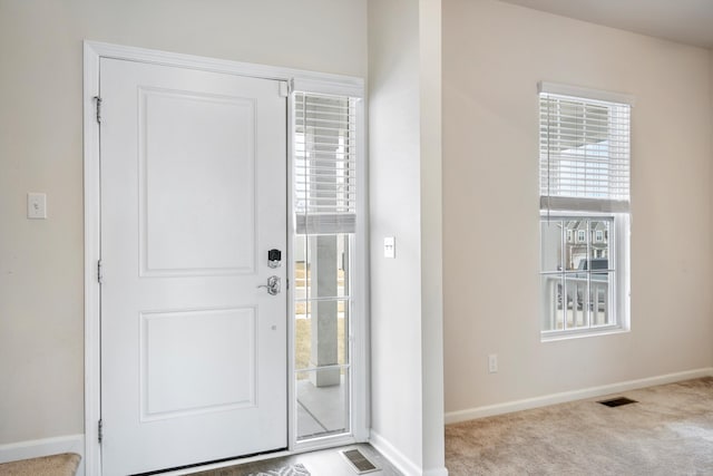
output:
[[[372,431],[421,464],[419,4],[369,1]],[[395,259],[383,237],[395,237]]]

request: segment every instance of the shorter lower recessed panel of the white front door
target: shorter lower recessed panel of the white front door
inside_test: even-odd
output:
[[[141,421],[255,406],[255,310],[141,313]]]

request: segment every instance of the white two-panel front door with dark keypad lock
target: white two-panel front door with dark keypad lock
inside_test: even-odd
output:
[[[100,60],[105,475],[287,446],[281,86]]]

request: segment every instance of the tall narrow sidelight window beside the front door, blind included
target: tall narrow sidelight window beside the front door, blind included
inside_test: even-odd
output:
[[[296,439],[351,431],[356,99],[293,95]]]

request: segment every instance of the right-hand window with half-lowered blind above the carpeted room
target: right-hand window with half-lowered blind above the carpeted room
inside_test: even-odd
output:
[[[543,339],[628,327],[631,104],[540,84]]]

